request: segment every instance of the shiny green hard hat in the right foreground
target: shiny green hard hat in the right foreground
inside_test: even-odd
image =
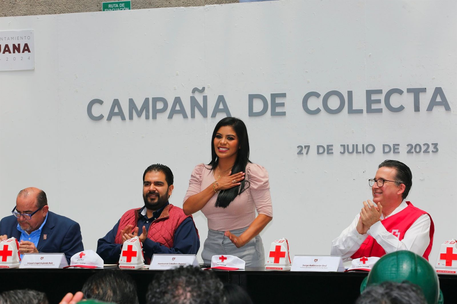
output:
[[[435,269],[425,258],[414,252],[402,250],[381,257],[361,283],[360,292],[362,293],[367,286],[385,281],[398,283],[408,281],[422,289],[428,304],[444,303]]]

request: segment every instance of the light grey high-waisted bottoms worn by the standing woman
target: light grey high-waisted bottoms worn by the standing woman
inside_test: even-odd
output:
[[[235,236],[239,236],[248,227],[231,230]],[[262,239],[259,235],[255,236],[243,247],[237,248],[224,231],[208,230],[208,237],[203,244],[202,259],[205,264],[211,264],[211,258],[216,255],[228,254],[239,257],[246,262],[246,267],[265,266],[265,252],[263,250]]]

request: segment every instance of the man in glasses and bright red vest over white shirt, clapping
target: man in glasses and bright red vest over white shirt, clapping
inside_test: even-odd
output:
[[[404,201],[412,177],[403,162],[382,162],[375,178],[368,180],[373,202],[364,201],[360,214],[332,241],[331,255],[341,256],[346,262],[409,250],[428,260],[435,226],[428,213]]]

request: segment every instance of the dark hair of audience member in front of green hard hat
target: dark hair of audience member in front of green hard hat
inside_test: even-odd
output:
[[[356,304],[427,304],[420,287],[404,281],[383,282],[365,289]]]

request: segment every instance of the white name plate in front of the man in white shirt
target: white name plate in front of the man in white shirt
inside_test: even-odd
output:
[[[304,256],[293,257],[291,271],[344,272],[340,256]]]

